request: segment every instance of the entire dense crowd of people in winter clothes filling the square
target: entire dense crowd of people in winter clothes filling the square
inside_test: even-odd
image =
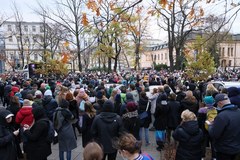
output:
[[[204,159],[207,147],[212,159],[237,160],[240,90],[218,90],[211,81],[220,77],[195,82],[179,71],[9,77],[0,82],[0,159],[46,160],[53,143],[60,160],[71,160],[80,135],[84,160],[118,154],[153,160],[141,150],[151,143],[160,152],[173,143],[176,160]],[[151,85],[157,87],[150,92]]]

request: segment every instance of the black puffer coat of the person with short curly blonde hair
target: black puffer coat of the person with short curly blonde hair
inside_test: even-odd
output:
[[[176,160],[201,160],[203,133],[197,121],[183,122],[174,131],[173,138],[179,141]]]

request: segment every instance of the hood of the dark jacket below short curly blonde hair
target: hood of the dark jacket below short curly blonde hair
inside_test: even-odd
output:
[[[197,135],[199,133],[199,126],[197,121],[187,121],[182,124],[182,128],[189,135]]]

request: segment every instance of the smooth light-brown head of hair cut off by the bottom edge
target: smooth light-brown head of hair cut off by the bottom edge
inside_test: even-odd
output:
[[[96,142],[88,143],[83,150],[83,160],[102,160],[103,150]]]

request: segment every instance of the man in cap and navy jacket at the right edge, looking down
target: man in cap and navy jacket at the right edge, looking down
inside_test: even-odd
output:
[[[218,115],[209,122],[209,135],[213,138],[217,160],[234,160],[240,154],[240,110],[231,104],[226,94],[217,94]]]

